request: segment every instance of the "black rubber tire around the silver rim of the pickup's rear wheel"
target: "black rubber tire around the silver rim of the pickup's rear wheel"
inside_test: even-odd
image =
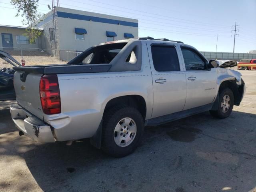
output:
[[[118,122],[123,118],[132,118],[136,123],[137,131],[132,142],[128,146],[118,146],[114,141],[114,130]],[[144,120],[140,112],[131,106],[116,106],[104,113],[102,127],[102,150],[114,157],[124,157],[137,148],[142,141],[144,132]]]

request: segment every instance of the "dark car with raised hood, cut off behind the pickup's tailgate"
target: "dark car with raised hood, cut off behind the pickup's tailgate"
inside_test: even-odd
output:
[[[12,64],[13,66],[22,66],[10,54],[0,51],[0,58]],[[12,68],[0,68],[0,101],[16,100],[16,94],[13,86],[13,75],[15,70]]]

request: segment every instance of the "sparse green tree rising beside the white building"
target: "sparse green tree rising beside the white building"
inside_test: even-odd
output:
[[[11,0],[11,4],[18,9],[16,17],[22,16],[22,24],[28,26],[26,33],[24,34],[29,38],[30,43],[33,43],[36,38],[42,34],[42,30],[35,28],[35,24],[40,21],[42,14],[38,13],[38,1],[39,0]]]

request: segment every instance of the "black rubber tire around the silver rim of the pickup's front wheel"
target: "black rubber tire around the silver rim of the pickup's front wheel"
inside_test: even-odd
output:
[[[228,95],[230,98],[230,106],[226,112],[222,111],[222,101],[224,100],[223,97]],[[224,119],[230,116],[234,106],[234,94],[230,88],[223,88],[220,90],[219,93],[219,100],[218,100],[218,110],[213,111],[210,110],[210,114],[216,118]]]

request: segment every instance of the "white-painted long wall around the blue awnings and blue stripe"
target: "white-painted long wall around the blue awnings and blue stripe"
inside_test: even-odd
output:
[[[134,19],[85,12],[68,8],[57,7],[56,11],[138,23],[138,20]],[[60,49],[85,50],[95,44],[106,42],[106,31],[115,32],[117,34],[115,40],[124,39],[124,33],[131,33],[134,35],[134,37],[138,37],[138,27],[124,26],[118,24],[107,24],[101,22],[77,20],[62,17],[58,17],[56,22],[56,36],[58,39]],[[75,28],[86,29],[87,34],[85,34],[85,40],[75,39]]]

